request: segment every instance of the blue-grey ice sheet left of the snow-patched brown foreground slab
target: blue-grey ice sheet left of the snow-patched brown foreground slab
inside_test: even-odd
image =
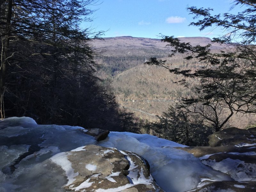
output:
[[[48,162],[49,158],[60,152],[97,143],[94,137],[84,134],[81,127],[37,125],[33,119],[28,117],[1,120],[0,132],[0,166],[1,168],[8,167],[7,171],[0,172],[0,186],[2,187],[0,191],[8,192],[64,191],[61,186],[67,183],[65,174],[60,168],[49,167],[49,164],[52,164]],[[27,145],[14,145],[17,142]],[[8,146],[3,146],[4,143]],[[28,148],[32,154],[19,159],[16,164],[16,159],[28,152]],[[13,164],[16,164],[15,167],[9,168]],[[65,161],[64,158],[59,161],[59,164],[67,165],[65,171],[70,180],[68,182],[71,182],[75,173],[67,168],[68,160]],[[12,173],[13,168],[16,169],[14,172],[12,170]]]

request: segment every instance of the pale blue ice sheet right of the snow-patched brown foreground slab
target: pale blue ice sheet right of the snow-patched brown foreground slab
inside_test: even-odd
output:
[[[110,132],[108,138],[100,141],[99,145],[132,151],[147,159],[152,176],[167,192],[196,188],[200,182],[200,176],[216,180],[231,180],[227,175],[205,166],[192,154],[172,148],[184,147],[184,145],[159,140],[151,135]]]

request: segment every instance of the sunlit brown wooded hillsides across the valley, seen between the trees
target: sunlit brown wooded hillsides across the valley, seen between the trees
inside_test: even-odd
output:
[[[211,44],[206,37],[183,37],[180,41],[190,42],[192,45]],[[186,96],[189,90],[174,84],[181,79],[156,66],[145,66],[143,63],[151,57],[167,60],[170,68],[186,68],[195,70],[202,63],[197,60],[184,60],[186,54],[177,54],[169,58],[171,47],[161,39],[140,37],[109,37],[95,40],[92,46],[98,54],[95,61],[100,64],[99,76],[110,78],[117,101],[129,111],[134,112],[140,119],[157,121],[156,115],[166,111],[171,103],[177,101],[178,96]],[[213,44],[212,50],[219,51],[222,46]],[[190,80],[190,84],[196,83]],[[248,124],[250,118],[243,117]],[[239,121],[239,118],[236,118]],[[244,125],[241,125],[244,126]]]

